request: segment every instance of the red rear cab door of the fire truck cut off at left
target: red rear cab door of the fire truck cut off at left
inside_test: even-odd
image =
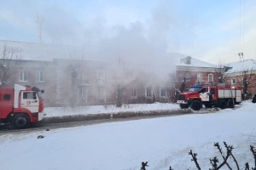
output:
[[[0,118],[6,118],[14,106],[13,90],[5,89],[0,92]]]

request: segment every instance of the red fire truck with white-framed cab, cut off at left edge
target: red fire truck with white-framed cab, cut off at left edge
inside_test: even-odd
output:
[[[26,128],[41,121],[44,114],[44,90],[20,86],[0,88],[0,127]]]

